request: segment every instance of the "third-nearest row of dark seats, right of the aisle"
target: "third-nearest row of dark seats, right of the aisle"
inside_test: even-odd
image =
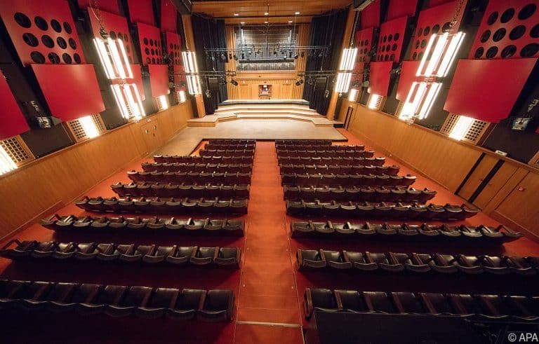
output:
[[[450,242],[511,242],[522,238],[520,232],[514,232],[503,225],[492,226],[448,226],[443,225],[413,225],[408,223],[350,223],[335,221],[293,221],[290,225],[294,238],[302,236],[319,236],[320,238],[347,238],[366,240],[430,240]]]

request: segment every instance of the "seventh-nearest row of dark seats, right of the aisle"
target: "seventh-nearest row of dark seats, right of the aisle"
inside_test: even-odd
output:
[[[307,173],[307,174],[387,174],[396,176],[401,167],[392,166],[364,166],[364,165],[279,165],[281,174],[284,173]]]

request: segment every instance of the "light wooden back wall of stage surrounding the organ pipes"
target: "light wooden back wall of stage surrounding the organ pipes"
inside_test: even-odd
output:
[[[236,46],[234,28],[234,26],[226,27],[227,47],[230,49]],[[308,24],[298,25],[299,46],[309,45],[309,30]],[[303,85],[296,86],[295,82],[300,79],[298,72],[305,71],[307,55],[308,53],[305,52],[303,57],[298,57],[295,62],[295,71],[237,71],[237,62],[233,59],[229,60],[225,64],[225,69],[237,71],[237,75],[233,78],[239,85],[227,83],[228,99],[258,99],[258,85],[263,84],[272,85],[272,99],[301,99]]]

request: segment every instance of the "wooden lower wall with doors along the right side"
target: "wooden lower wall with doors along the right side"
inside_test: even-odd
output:
[[[481,147],[457,142],[420,125],[408,125],[392,115],[347,99],[342,99],[339,121],[345,121],[349,108],[350,132],[464,200],[472,197],[481,181],[501,161],[499,170],[472,204],[501,223],[539,239],[538,169]],[[477,167],[466,179],[476,163]]]

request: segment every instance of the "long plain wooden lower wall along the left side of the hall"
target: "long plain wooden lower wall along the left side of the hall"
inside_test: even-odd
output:
[[[192,118],[191,102],[129,123],[0,176],[0,238],[39,221],[168,142]]]

